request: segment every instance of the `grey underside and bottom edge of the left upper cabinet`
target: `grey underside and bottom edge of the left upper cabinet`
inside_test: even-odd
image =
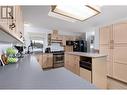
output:
[[[0,26],[0,42],[1,43],[18,43],[23,44],[23,41],[12,33]]]

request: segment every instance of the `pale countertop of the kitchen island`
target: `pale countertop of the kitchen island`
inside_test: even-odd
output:
[[[106,57],[107,56],[107,55],[104,55],[104,54],[84,53],[84,52],[65,52],[65,54],[73,54],[73,55],[85,56],[85,57],[92,57],[92,58]]]

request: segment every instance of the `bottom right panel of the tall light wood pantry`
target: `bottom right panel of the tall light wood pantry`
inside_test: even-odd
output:
[[[127,82],[127,65],[120,64],[120,63],[114,63],[113,76],[116,79]]]

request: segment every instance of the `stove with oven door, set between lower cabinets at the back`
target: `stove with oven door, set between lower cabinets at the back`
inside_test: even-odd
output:
[[[52,51],[53,53],[53,67],[64,66],[64,51]]]

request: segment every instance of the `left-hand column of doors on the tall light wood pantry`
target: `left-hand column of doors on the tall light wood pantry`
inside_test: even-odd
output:
[[[100,28],[99,34],[99,53],[107,55],[107,75],[113,76],[112,25]]]

